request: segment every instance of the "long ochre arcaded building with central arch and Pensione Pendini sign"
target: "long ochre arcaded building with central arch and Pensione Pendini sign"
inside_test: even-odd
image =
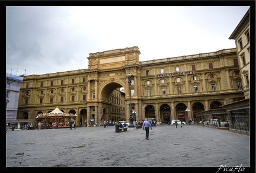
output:
[[[18,118],[36,123],[38,114],[57,106],[77,114],[82,126],[85,120],[100,123],[101,116],[118,121],[121,112],[129,120],[130,111],[139,121],[201,121],[217,117],[196,113],[245,98],[235,48],[144,62],[139,55],[137,46],[90,53],[88,69],[24,76]],[[113,91],[119,88],[124,89],[123,105],[113,100]],[[218,114],[218,118],[228,121],[229,117]]]

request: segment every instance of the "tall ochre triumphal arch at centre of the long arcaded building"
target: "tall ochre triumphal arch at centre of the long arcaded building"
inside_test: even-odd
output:
[[[142,114],[139,55],[137,46],[89,54],[88,70],[85,71],[88,82],[88,119],[92,118],[90,109],[94,107],[94,112],[100,113],[100,116],[104,114],[104,119],[111,120],[110,95],[117,88],[124,88],[125,91],[126,120],[129,120],[132,108],[139,120],[145,117]],[[129,85],[129,75],[132,75],[132,85]],[[130,90],[134,91],[132,95]],[[95,116],[95,121],[99,121],[100,116]]]

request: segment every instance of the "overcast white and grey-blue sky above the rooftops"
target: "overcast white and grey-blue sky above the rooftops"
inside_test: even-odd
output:
[[[138,46],[140,61],[235,47],[249,6],[6,7],[6,72],[87,69],[89,53]]]

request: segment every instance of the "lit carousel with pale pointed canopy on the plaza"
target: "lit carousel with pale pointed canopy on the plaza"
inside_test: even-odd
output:
[[[42,129],[55,129],[55,128],[68,128],[69,120],[73,120],[76,114],[66,114],[55,108],[50,113],[38,114],[36,116],[37,121],[40,121]],[[75,123],[76,124],[76,123]]]

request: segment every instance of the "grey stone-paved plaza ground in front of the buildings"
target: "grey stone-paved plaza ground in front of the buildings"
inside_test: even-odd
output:
[[[251,164],[250,136],[196,124],[152,127],[149,140],[143,129],[116,133],[115,126],[6,133],[7,168],[213,167],[217,172],[223,165],[222,171],[239,166],[244,173]]]

